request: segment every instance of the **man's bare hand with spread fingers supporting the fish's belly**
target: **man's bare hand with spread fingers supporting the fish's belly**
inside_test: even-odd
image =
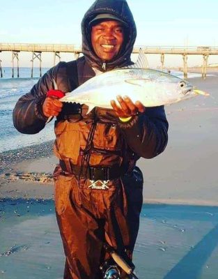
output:
[[[119,106],[116,104],[115,100],[111,100],[111,106],[120,118],[128,118],[136,115],[138,112],[144,112],[146,110],[139,100],[137,100],[135,104],[127,96],[124,96],[123,98],[121,96],[117,96],[117,100]]]

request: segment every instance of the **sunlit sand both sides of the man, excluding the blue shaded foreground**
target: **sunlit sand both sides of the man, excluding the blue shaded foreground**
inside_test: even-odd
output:
[[[218,205],[218,77],[191,82],[210,97],[165,107],[169,121],[166,150],[138,163],[146,203]],[[52,141],[1,153],[0,163],[0,197],[52,198],[52,172],[58,163]]]

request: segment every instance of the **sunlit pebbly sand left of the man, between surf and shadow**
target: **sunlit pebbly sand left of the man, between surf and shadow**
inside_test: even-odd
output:
[[[0,154],[0,198],[53,199],[53,142]]]

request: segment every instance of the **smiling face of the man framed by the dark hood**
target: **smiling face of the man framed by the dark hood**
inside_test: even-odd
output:
[[[116,20],[100,22],[92,27],[93,50],[102,61],[113,59],[122,47],[123,40],[123,27]]]

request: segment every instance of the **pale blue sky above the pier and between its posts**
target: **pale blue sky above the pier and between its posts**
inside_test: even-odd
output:
[[[217,0],[128,0],[137,24],[135,45],[218,47]],[[0,0],[0,43],[57,43],[81,45],[80,24],[93,0]],[[43,54],[43,66],[52,66],[52,54]],[[2,66],[11,65],[11,53],[1,52]],[[30,66],[31,54],[21,53],[21,66]],[[72,54],[61,54],[61,60]],[[201,63],[201,57],[189,63]],[[159,63],[159,56],[148,62]],[[218,62],[218,56],[209,63]],[[166,63],[181,63],[167,56]],[[173,65],[172,65],[173,66]]]

